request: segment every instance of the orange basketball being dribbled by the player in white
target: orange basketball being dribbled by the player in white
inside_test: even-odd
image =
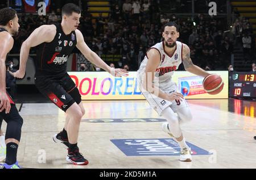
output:
[[[203,86],[208,94],[214,95],[222,91],[224,82],[217,74],[210,74],[204,78]]]

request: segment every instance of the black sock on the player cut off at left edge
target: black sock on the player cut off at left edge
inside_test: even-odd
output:
[[[18,144],[8,143],[6,144],[6,164],[12,165],[17,161]]]

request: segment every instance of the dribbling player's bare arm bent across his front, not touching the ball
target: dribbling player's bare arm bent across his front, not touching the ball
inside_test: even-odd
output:
[[[168,101],[174,101],[174,99],[182,101],[183,95],[180,93],[172,93],[171,95],[164,93],[157,86],[154,85],[154,77],[156,68],[160,64],[160,54],[156,49],[150,49],[147,52],[147,65],[144,76],[142,77],[142,87],[151,94],[156,95],[159,98],[166,99]]]

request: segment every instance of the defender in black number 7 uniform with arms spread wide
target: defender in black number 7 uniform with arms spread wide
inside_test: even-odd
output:
[[[23,78],[26,61],[31,47],[37,46],[35,85],[67,114],[63,131],[53,136],[56,143],[68,147],[66,160],[75,165],[87,165],[77,147],[77,137],[82,116],[85,114],[81,95],[71,77],[67,74],[67,60],[77,47],[93,64],[111,73],[113,76],[127,76],[124,69],[110,68],[85,44],[84,37],[77,30],[81,10],[68,3],[62,9],[62,22],[57,25],[43,25],[37,28],[22,44],[20,50],[20,69],[15,77]]]

